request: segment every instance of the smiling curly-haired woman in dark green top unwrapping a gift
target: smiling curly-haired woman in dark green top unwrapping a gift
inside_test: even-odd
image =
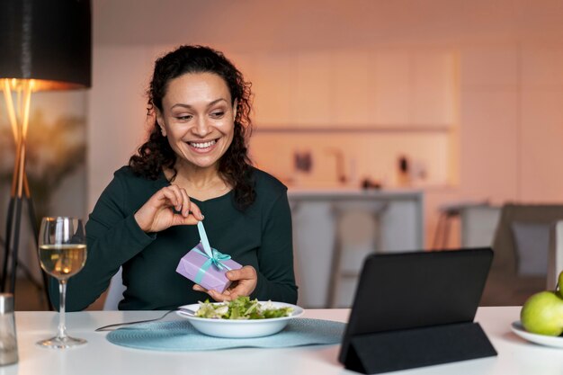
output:
[[[250,165],[250,109],[250,84],[220,52],[183,46],[156,60],[148,90],[154,125],[90,214],[88,259],[68,282],[68,310],[93,303],[121,265],[120,309],[171,309],[209,297],[296,302],[287,189]],[[234,282],[223,293],[175,272],[200,241],[199,220],[211,246],[244,265],[227,273]]]

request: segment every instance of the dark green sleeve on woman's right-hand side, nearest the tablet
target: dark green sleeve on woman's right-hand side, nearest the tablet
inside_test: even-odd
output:
[[[293,272],[290,204],[286,192],[273,202],[264,216],[258,265],[258,283],[252,297],[295,304],[297,286]]]

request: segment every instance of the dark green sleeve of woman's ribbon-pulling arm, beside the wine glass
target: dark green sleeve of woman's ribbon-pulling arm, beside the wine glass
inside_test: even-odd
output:
[[[87,308],[106,290],[122,263],[153,241],[125,208],[125,189],[116,174],[86,224],[87,257],[81,272],[67,284],[67,311]],[[58,309],[58,282],[51,279],[50,296]]]

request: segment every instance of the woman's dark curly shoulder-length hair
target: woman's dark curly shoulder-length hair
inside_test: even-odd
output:
[[[245,81],[242,73],[221,52],[204,46],[181,46],[156,59],[147,90],[147,115],[155,117],[155,107],[160,112],[163,111],[162,100],[168,83],[186,73],[213,73],[220,76],[228,85],[231,105],[237,101],[234,136],[227,151],[219,159],[219,175],[233,187],[237,208],[245,210],[255,201],[252,163],[246,147],[246,140],[252,133],[251,84]],[[164,168],[169,168],[174,172],[172,182],[177,174],[175,162],[174,150],[162,135],[155,117],[147,142],[139,147],[136,155],[130,157],[129,165],[135,174],[150,180],[156,180]]]

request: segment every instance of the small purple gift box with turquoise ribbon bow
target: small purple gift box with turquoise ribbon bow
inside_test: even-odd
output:
[[[216,249],[212,249],[212,252],[212,257],[207,255],[200,242],[188,254],[183,255],[176,272],[207,290],[217,290],[222,293],[231,283],[225,273],[228,270],[242,268],[242,265],[230,259],[229,255],[219,253]]]

